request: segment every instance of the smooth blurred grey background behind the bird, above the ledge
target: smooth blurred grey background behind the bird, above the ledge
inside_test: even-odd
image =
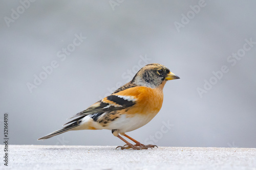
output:
[[[161,63],[181,79],[166,83],[161,111],[128,135],[159,146],[256,147],[255,1],[0,4],[0,134],[7,112],[11,144],[123,145],[108,130],[37,138]]]

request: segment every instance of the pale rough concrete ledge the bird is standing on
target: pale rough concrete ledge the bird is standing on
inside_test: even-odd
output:
[[[1,158],[4,156],[1,145]],[[116,147],[9,145],[3,169],[256,169],[255,148]]]

